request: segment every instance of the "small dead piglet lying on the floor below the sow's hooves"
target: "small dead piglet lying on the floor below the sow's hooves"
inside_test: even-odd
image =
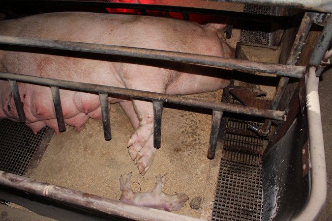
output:
[[[154,209],[164,209],[166,211],[179,210],[183,204],[189,199],[184,193],[174,195],[166,194],[162,191],[165,186],[165,175],[157,176],[157,183],[151,193],[134,193],[130,186],[131,172],[128,173],[127,179],[123,181],[120,177],[120,200],[137,206],[145,206]]]

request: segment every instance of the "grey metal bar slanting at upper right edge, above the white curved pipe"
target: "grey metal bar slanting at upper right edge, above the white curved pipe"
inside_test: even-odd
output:
[[[319,77],[324,70],[323,67],[320,67],[319,64],[324,58],[326,51],[329,49],[331,45],[332,39],[332,17],[330,16],[326,26],[324,27],[317,43],[315,49],[310,57],[310,61],[308,63],[308,67],[314,66],[317,68],[316,76]]]

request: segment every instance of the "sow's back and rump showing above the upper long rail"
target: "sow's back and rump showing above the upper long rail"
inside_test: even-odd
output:
[[[59,12],[0,22],[0,34],[213,54],[218,38],[191,22],[150,16]],[[212,47],[205,45],[214,44]],[[210,49],[210,50],[209,50]]]

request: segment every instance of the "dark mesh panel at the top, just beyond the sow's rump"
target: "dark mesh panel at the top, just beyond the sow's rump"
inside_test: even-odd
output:
[[[244,4],[243,12],[271,15],[271,7],[266,5]],[[265,22],[243,22],[240,42],[271,45],[270,24]]]

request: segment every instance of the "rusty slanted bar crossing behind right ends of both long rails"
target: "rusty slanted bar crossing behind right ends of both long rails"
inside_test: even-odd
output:
[[[298,34],[296,35],[293,48],[290,52],[290,55],[288,56],[287,59],[287,64],[288,65],[295,65],[299,55],[302,51],[304,42],[309,34],[313,18],[317,16],[318,13],[315,12],[306,12],[302,18],[302,22],[300,25],[300,28],[298,30]],[[281,77],[278,83],[278,86],[275,90],[275,94],[273,96],[272,104],[271,104],[271,110],[276,110],[278,108],[278,105],[280,103],[281,97],[283,93],[286,90],[287,83],[289,81],[289,78],[287,77]],[[260,136],[267,136],[269,134],[271,126],[271,120],[267,119],[265,120],[262,128],[258,130],[258,134]]]

